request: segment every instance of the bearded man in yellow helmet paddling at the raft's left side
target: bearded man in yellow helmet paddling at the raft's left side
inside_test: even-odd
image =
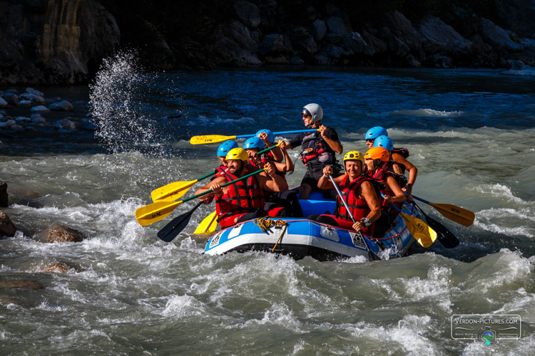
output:
[[[228,171],[195,192],[200,194],[208,189],[213,190],[208,195],[215,196],[215,210],[218,212],[218,222],[222,228],[265,216],[265,192],[284,192],[288,189],[285,179],[275,173],[275,167],[271,162],[265,164],[265,174],[255,174],[248,179],[221,187],[227,182],[252,173],[248,170],[251,167],[248,164],[249,157],[243,148],[233,148],[225,159]]]

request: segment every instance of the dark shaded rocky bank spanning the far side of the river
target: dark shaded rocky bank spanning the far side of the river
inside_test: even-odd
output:
[[[80,83],[136,48],[156,70],[535,65],[530,0],[0,0],[0,83]]]

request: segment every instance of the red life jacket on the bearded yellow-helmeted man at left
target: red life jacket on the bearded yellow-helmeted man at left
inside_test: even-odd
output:
[[[245,169],[245,174],[247,173],[248,171]],[[228,182],[240,178],[229,172],[225,172],[222,175]],[[258,211],[258,209],[263,211],[265,198],[258,177],[252,176],[246,180],[247,182],[240,180],[240,182],[230,184],[228,192],[220,198],[215,198],[218,221],[235,214],[250,213]]]

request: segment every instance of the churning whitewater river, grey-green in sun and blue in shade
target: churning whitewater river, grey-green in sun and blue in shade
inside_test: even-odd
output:
[[[532,74],[292,67],[147,75],[120,58],[91,88],[39,88],[91,95],[82,111],[100,115],[100,130],[0,136],[10,194],[2,210],[19,229],[0,240],[0,281],[39,285],[0,287],[0,355],[533,354]],[[475,212],[464,227],[420,204],[461,244],[374,262],[204,256],[208,236],[193,231],[213,206],[201,206],[170,244],[156,233],[194,201],[137,224],[134,211],[153,189],[218,164],[218,145],[192,146],[189,137],[301,130],[307,103],[322,105],[345,151],[365,151],[366,130],[387,127],[419,168],[415,195]],[[296,166],[290,186],[305,172]],[[53,223],[88,239],[37,241]],[[54,262],[73,268],[42,271]],[[452,339],[454,314],[519,315],[521,337]]]

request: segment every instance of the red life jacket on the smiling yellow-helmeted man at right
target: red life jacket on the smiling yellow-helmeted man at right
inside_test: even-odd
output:
[[[359,221],[360,219],[365,218],[368,214],[370,214],[371,211],[370,206],[368,206],[366,202],[366,199],[361,199],[357,196],[357,189],[359,189],[360,185],[363,182],[372,183],[372,186],[375,189],[375,194],[377,194],[377,199],[379,199],[380,203],[381,194],[379,192],[378,184],[374,181],[374,179],[370,177],[360,176],[354,181],[350,182],[350,177],[347,176],[340,183],[340,192],[342,193],[342,197],[344,197],[344,200],[347,203],[347,207],[350,209],[355,221]],[[351,216],[350,214],[347,214],[347,209],[345,209],[345,205],[340,199],[340,197],[337,197],[335,216],[340,219],[351,221]],[[371,229],[373,231],[373,227]]]

